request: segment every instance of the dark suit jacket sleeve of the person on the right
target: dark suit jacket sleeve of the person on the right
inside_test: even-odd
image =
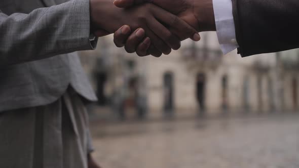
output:
[[[242,57],[299,48],[298,0],[232,0]]]

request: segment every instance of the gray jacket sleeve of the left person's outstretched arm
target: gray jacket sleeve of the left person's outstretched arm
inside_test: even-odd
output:
[[[29,14],[0,11],[0,65],[91,50],[89,0],[73,0]]]

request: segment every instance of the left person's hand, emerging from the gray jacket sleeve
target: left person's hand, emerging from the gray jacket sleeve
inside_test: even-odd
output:
[[[177,50],[180,48],[181,39],[194,37],[195,34],[198,34],[189,24],[153,4],[142,4],[128,9],[121,9],[115,7],[110,0],[91,0],[90,3],[91,22],[94,29],[112,33],[122,25],[128,25],[130,30],[138,34],[137,29],[142,28],[139,34],[142,36],[145,33],[151,40],[146,55],[151,54],[159,57],[162,53],[169,54],[171,49]],[[175,33],[181,29],[186,31]],[[142,40],[148,43],[147,38]],[[117,46],[120,47],[118,44]],[[126,50],[129,53],[135,52],[135,49],[126,48]]]

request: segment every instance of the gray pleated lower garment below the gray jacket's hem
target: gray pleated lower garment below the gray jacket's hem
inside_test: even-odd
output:
[[[46,106],[0,113],[0,167],[86,168],[88,115],[70,92]]]

